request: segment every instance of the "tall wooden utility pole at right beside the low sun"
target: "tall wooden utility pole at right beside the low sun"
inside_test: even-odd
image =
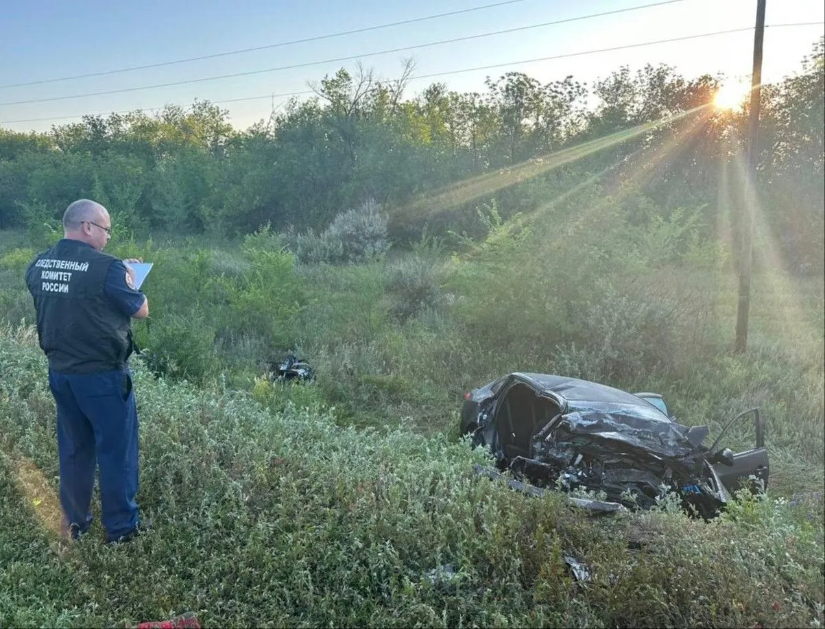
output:
[[[753,34],[753,73],[751,111],[747,120],[747,179],[745,211],[742,221],[742,252],[739,260],[739,303],[736,313],[736,351],[747,349],[747,315],[751,307],[751,267],[753,262],[753,223],[757,203],[757,161],[759,159],[759,103],[762,83],[762,40],[765,36],[765,4],[757,0],[757,27]]]

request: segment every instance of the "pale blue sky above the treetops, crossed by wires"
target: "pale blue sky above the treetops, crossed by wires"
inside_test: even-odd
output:
[[[394,79],[408,58],[415,70],[407,98],[435,82],[458,92],[484,92],[485,78],[509,71],[542,83],[573,75],[592,84],[622,65],[635,71],[644,64],[668,64],[686,78],[709,73],[750,82],[757,0],[676,0],[580,20],[573,18],[656,0],[510,0],[489,6],[498,2],[502,0],[0,0],[0,127],[43,132],[87,114],[137,109],[152,113],[167,104],[190,106],[197,99],[227,109],[229,122],[243,130],[273,110],[281,111],[289,99],[286,94],[307,92],[337,69],[352,73],[360,61],[380,78]],[[563,20],[568,21],[540,26]],[[825,31],[823,21],[821,0],[767,0],[763,83],[799,72],[802,58]],[[799,22],[820,23],[771,26]],[[747,30],[576,54],[740,28]],[[435,44],[508,29],[520,30]],[[277,44],[285,45],[273,46]],[[422,47],[397,50],[411,46]],[[251,48],[262,50],[107,73]],[[335,60],[344,57],[350,59]],[[303,67],[283,69],[295,65]],[[462,71],[491,65],[500,67]],[[107,74],[52,80],[91,73]],[[247,74],[181,83],[237,73]],[[135,89],[158,83],[181,84]],[[93,94],[116,90],[129,91]]]

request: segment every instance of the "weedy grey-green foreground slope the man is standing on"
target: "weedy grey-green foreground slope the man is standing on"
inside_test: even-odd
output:
[[[272,412],[135,371],[153,531],[109,547],[96,521],[67,545],[45,361],[31,329],[0,332],[0,626],[125,627],[187,610],[205,627],[825,621],[821,495],[746,495],[711,523],[667,502],[592,519],[560,495],[474,477],[483,452],[446,433],[342,427],[318,404]]]

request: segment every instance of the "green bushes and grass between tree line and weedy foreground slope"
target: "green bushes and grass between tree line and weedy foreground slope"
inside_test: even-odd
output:
[[[464,391],[516,370],[658,390],[681,421],[712,432],[759,406],[771,485],[822,489],[821,278],[757,275],[749,351],[738,356],[735,277],[652,265],[619,216],[605,220],[621,248],[575,220],[548,239],[546,218],[516,216],[457,253],[422,239],[412,252],[342,266],[295,264],[267,229],[226,248],[127,239],[112,249],[156,264],[145,286],[152,318],[135,329],[157,374],[260,391],[268,365],[298,352],[318,372],[313,399],[335,406],[338,423],[424,434],[455,428]],[[649,248],[649,235],[640,240]],[[10,324],[33,319],[22,281],[32,253],[0,252]],[[744,430],[730,438],[752,442]]]

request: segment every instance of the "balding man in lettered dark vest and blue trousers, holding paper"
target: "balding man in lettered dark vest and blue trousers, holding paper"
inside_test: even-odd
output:
[[[131,319],[148,317],[148,301],[135,290],[129,267],[139,261],[102,253],[111,238],[105,207],[74,201],[63,227],[64,238],[26,270],[57,404],[60,504],[71,536],[87,532],[97,462],[106,541],[122,542],[142,529],[135,503],[138,415],[128,360]]]

